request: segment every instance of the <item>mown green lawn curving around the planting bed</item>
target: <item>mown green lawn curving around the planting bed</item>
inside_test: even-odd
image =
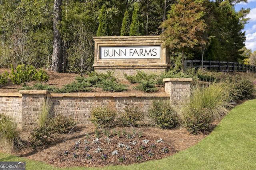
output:
[[[3,153],[0,153],[0,161],[26,161],[27,170],[58,169],[41,162]],[[85,167],[66,169],[82,170]],[[256,100],[236,106],[208,137],[173,156],[131,166],[108,166],[97,169],[254,170],[256,169]]]

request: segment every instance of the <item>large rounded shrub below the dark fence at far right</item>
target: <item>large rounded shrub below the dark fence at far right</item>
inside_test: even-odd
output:
[[[231,90],[230,96],[234,101],[249,98],[255,92],[253,81],[247,76],[228,75],[222,82]]]

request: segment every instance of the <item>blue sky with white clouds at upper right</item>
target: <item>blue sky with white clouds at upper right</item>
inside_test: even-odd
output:
[[[246,41],[245,46],[247,49],[251,49],[252,52],[256,51],[256,0],[248,0],[248,3],[236,4],[235,10],[239,11],[241,8],[250,8],[250,14],[247,18],[250,18],[242,31],[245,31]]]

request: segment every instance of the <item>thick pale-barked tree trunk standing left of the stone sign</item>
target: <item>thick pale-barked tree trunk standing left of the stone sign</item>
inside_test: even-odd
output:
[[[62,0],[54,0],[53,5],[53,50],[52,50],[52,70],[62,72],[62,38],[60,35]]]

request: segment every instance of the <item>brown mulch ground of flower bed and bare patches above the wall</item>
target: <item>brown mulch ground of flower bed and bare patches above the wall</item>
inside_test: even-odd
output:
[[[5,70],[5,68],[0,68],[0,74]],[[10,72],[10,70],[8,71]],[[78,74],[56,73],[53,71],[48,71],[48,75],[50,79],[47,84],[58,88],[74,81],[74,78],[78,76]],[[33,83],[35,82],[30,82],[28,85]],[[123,83],[129,85],[128,90],[124,93],[142,93],[134,90],[132,88],[134,85],[127,81]],[[12,84],[9,80],[7,84],[0,86],[0,93],[18,93],[18,88],[21,88],[21,86]],[[102,90],[96,88],[93,92],[102,92]],[[162,92],[164,92],[164,87],[159,87],[158,93]],[[113,130],[116,131],[116,134],[113,134]],[[127,165],[170,156],[195,145],[207,136],[207,134],[191,135],[184,128],[163,130],[150,127],[150,125],[148,127],[136,127],[135,129],[127,127],[109,129],[109,131],[108,138],[100,132],[100,138],[96,142],[94,125],[77,125],[69,134],[56,137],[50,141],[49,145],[40,150],[25,148],[15,154],[62,168]],[[123,134],[124,131],[125,134]],[[131,138],[128,138],[128,133],[130,133]],[[26,144],[29,144],[29,134],[28,131],[21,132],[21,137]],[[145,139],[148,143],[142,142]],[[78,142],[76,145],[76,141],[80,143]],[[2,150],[2,152],[5,151]]]

